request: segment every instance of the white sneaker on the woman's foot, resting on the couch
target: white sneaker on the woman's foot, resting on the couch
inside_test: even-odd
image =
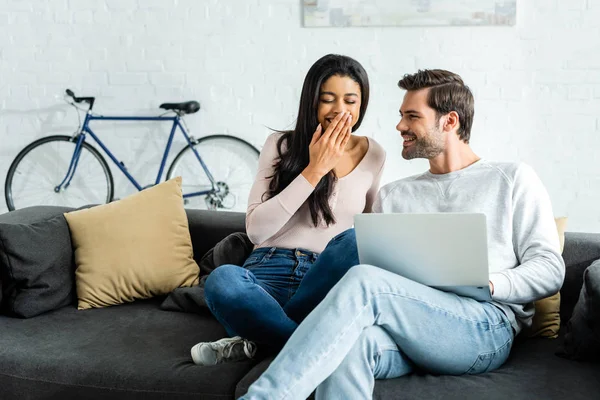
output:
[[[254,357],[256,344],[239,336],[216,342],[200,342],[192,347],[192,360],[198,365],[216,365],[227,361],[241,361]]]

